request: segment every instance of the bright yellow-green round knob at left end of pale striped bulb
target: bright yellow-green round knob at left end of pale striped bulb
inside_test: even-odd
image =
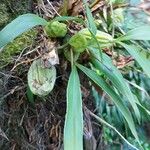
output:
[[[82,53],[88,46],[86,38],[80,33],[73,35],[69,40],[69,44],[73,47],[73,50],[78,53]]]

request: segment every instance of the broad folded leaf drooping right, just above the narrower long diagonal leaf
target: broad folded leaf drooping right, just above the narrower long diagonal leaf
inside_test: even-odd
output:
[[[113,65],[111,59],[104,53],[102,53],[103,63],[98,61],[99,51],[97,49],[90,49],[93,55],[92,63],[96,69],[102,72],[108,79],[113,83],[113,85],[118,89],[118,91],[129,101],[131,104],[138,121],[140,122],[141,116],[139,109],[136,104],[136,100],[134,99],[134,95],[132,94],[129,85],[124,80],[122,74],[119,70]]]

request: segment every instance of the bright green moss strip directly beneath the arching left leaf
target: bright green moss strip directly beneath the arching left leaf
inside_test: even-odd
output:
[[[30,46],[36,36],[37,30],[32,29],[5,46],[0,55],[0,68],[11,63],[13,61],[13,56],[19,54],[23,49]]]

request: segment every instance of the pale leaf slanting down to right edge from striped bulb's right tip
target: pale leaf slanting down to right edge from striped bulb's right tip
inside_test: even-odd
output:
[[[130,55],[139,63],[144,72],[150,77],[150,58],[147,56],[146,51],[141,50],[135,45],[120,44],[129,52]]]

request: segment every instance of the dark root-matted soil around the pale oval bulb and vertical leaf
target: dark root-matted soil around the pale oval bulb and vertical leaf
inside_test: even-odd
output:
[[[10,72],[11,67],[7,66],[6,70],[0,73],[2,81],[0,127],[8,138],[0,136],[0,149],[62,149],[66,87],[70,66],[66,70],[64,70],[64,66],[57,66],[58,78],[53,91],[44,98],[35,96],[34,103],[28,101],[26,94],[28,67],[28,65],[22,65],[17,70]],[[92,111],[95,107],[88,81],[83,74],[80,75],[80,79],[84,93],[84,106]],[[85,125],[87,124],[86,120]],[[88,123],[89,121],[92,124],[90,117]],[[100,128],[96,128],[94,132],[97,132],[96,136],[98,136]]]

